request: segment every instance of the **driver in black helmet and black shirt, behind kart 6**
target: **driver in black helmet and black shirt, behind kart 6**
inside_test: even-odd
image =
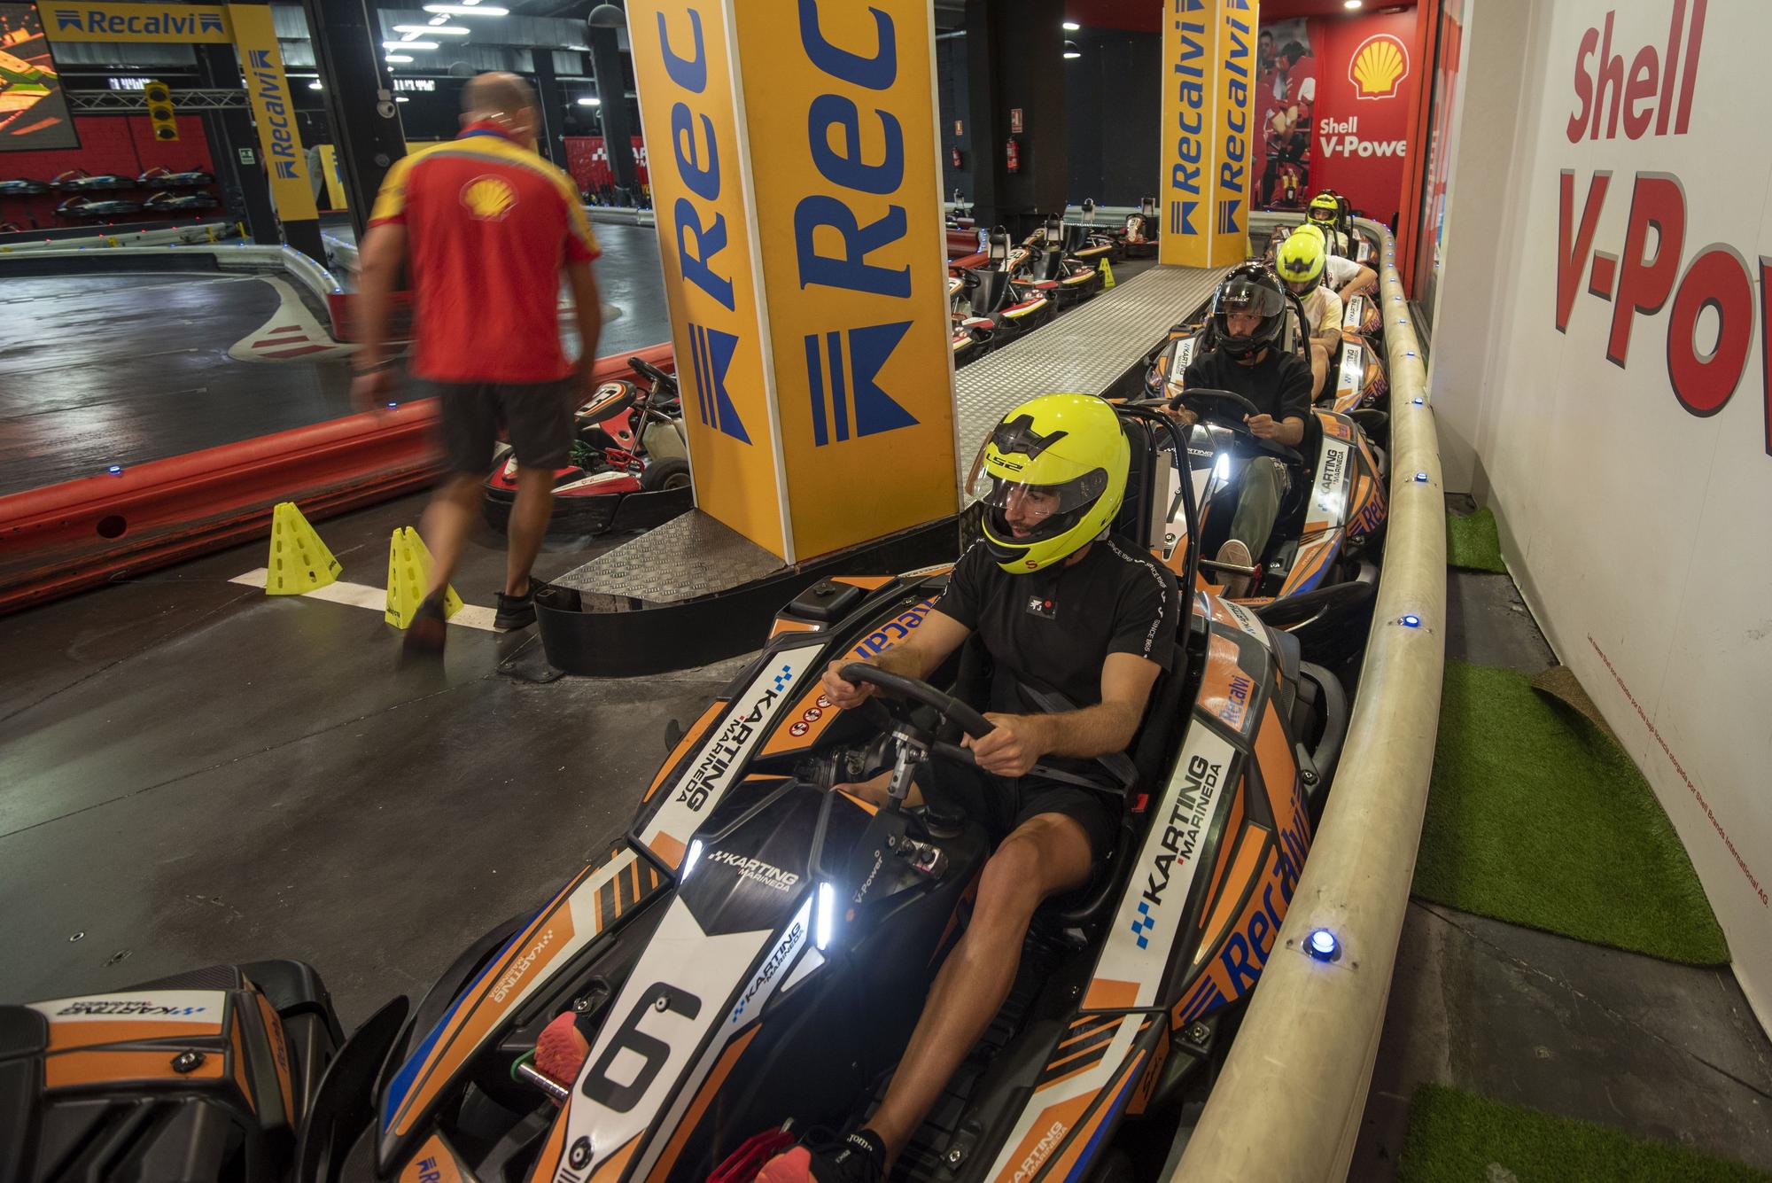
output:
[[[1217,345],[1187,365],[1182,388],[1242,395],[1260,409],[1258,414],[1242,418],[1251,436],[1297,448],[1304,441],[1304,418],[1311,413],[1311,367],[1278,345],[1285,315],[1286,298],[1272,271],[1258,262],[1232,267],[1212,296]],[[1184,423],[1196,420],[1187,409],[1178,414]],[[1290,480],[1278,457],[1258,455],[1249,460],[1237,494],[1237,514],[1230,522],[1230,540],[1217,553],[1219,563],[1255,567],[1267,549],[1267,537],[1274,531]],[[1244,595],[1249,581],[1249,576],[1230,576],[1224,595]]]

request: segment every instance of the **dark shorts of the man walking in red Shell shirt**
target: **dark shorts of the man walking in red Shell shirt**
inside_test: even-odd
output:
[[[576,377],[553,383],[425,383],[443,404],[443,455],[454,473],[484,475],[503,429],[519,468],[565,468]]]

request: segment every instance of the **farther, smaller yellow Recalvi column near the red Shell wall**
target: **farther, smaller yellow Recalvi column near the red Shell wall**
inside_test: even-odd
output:
[[[1159,262],[1247,255],[1258,0],[1162,0]]]

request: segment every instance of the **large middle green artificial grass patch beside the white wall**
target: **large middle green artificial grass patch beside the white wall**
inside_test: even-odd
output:
[[[1446,662],[1414,893],[1669,962],[1729,960],[1643,774],[1513,669]]]

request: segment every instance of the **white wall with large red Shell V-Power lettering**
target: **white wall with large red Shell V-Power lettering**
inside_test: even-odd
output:
[[[1501,60],[1501,48],[1522,43],[1517,104],[1510,110],[1497,85],[1480,104],[1481,71],[1464,74],[1473,92],[1448,213],[1432,391],[1446,436],[1464,441],[1471,485],[1487,491],[1503,522],[1522,592],[1655,786],[1728,933],[1737,978],[1761,1025],[1772,1025],[1772,404],[1760,319],[1772,292],[1758,276],[1760,255],[1772,255],[1772,129],[1758,97],[1772,73],[1761,50],[1772,5],[1708,0],[1685,135],[1676,135],[1678,92],[1666,135],[1652,120],[1630,140],[1623,115],[1616,138],[1604,138],[1604,119],[1598,140],[1572,143],[1566,131],[1584,32],[1604,35],[1611,9],[1627,81],[1639,51],[1644,67],[1655,55],[1659,76],[1676,2],[1687,11],[1678,87],[1703,0],[1473,5],[1473,57]],[[1506,152],[1497,126],[1515,128]],[[1614,257],[1639,174],[1671,175],[1683,189],[1673,292],[1634,317],[1623,367],[1607,361],[1616,299],[1589,294],[1591,255],[1577,262],[1566,331],[1556,329],[1563,170],[1574,174],[1570,236],[1591,175],[1611,170],[1591,250]],[[1731,326],[1751,338],[1733,395],[1699,416],[1675,397],[1669,324],[1689,264],[1717,244],[1751,276],[1751,306],[1726,305]],[[1690,296],[1728,290],[1690,283]],[[1699,315],[1696,338],[1712,347],[1715,312]],[[1692,395],[1703,397],[1696,386]]]

